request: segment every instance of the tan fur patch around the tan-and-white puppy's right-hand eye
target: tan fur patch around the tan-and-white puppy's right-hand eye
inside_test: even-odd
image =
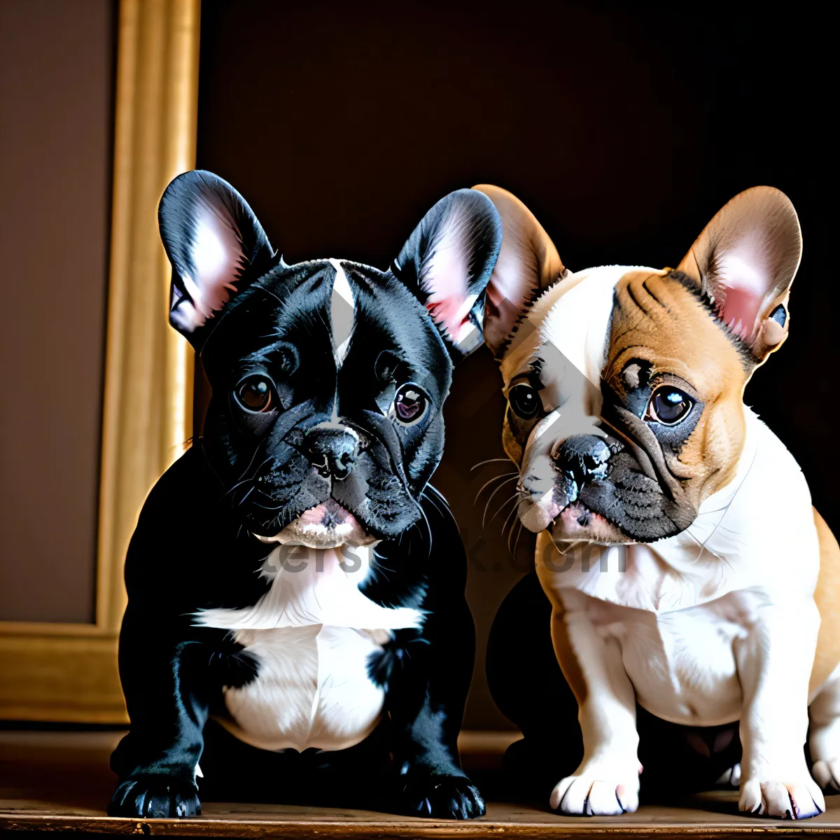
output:
[[[699,507],[735,475],[746,424],[743,388],[747,372],[711,313],[679,281],[648,271],[629,271],[616,286],[610,358],[604,379],[617,394],[633,359],[647,360],[657,376],[676,375],[705,403],[699,423],[679,456],[666,454],[686,497]]]

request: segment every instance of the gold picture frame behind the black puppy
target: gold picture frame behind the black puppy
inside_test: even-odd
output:
[[[192,437],[194,360],[168,323],[157,205],[195,165],[200,5],[119,3],[96,618],[0,622],[5,720],[128,721],[117,671],[123,559],[146,494]]]

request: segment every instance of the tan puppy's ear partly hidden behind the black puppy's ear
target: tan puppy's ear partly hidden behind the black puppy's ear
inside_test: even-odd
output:
[[[549,234],[516,196],[490,184],[473,189],[489,197],[501,217],[501,250],[484,309],[485,344],[499,359],[528,302],[566,270]]]

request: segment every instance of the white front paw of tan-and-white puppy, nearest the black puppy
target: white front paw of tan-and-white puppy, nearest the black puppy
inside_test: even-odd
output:
[[[573,776],[566,776],[551,791],[553,811],[577,816],[609,816],[638,808],[638,774],[641,769],[622,771],[617,765],[581,764]]]

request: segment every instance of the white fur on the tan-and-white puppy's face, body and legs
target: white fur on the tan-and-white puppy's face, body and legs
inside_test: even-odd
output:
[[[545,481],[543,462],[570,434],[600,433],[593,390],[605,361],[612,289],[629,270],[587,270],[570,286],[549,289],[503,360],[506,387],[536,355],[547,361],[541,377],[551,413],[528,443],[523,481]],[[685,532],[621,547],[556,546],[545,531],[538,537],[537,570],[555,605],[553,630],[564,624],[587,685],[580,708],[585,758],[551,797],[565,812],[616,813],[617,801],[635,809],[636,701],[678,723],[741,721],[742,810],[784,816],[791,797],[799,816],[825,807],[802,744],[811,700],[821,712],[811,739],[815,773],[837,779],[840,678],[809,698],[819,627],[811,496],[780,440],[746,407],[744,416],[748,434],[736,477],[704,501]],[[550,493],[524,505],[522,521],[550,522],[551,505]]]

